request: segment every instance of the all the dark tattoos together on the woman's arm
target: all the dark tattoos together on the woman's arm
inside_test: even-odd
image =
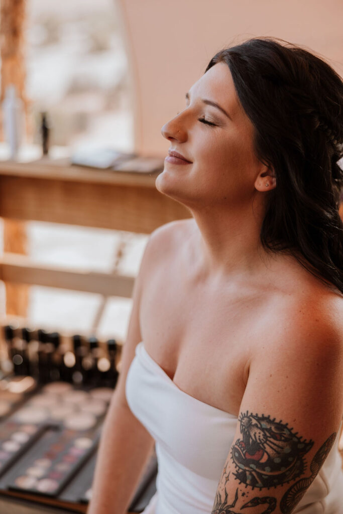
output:
[[[287,423],[271,419],[270,416],[258,416],[257,414],[241,413],[240,431],[242,439],[237,439],[232,446],[231,460],[236,472],[233,476],[239,480],[240,484],[245,484],[245,489],[250,486],[254,488],[270,488],[289,484],[296,479],[295,482],[283,495],[280,502],[282,514],[291,514],[297,503],[303,497],[306,489],[312,484],[316,475],[328,456],[336,433],[333,433],[326,442],[317,451],[311,462],[311,474],[307,478],[301,478],[306,470],[304,455],[308,453],[314,445],[312,439],[306,441],[297,432],[293,432],[293,428],[288,428]],[[218,490],[215,495],[215,501],[212,514],[238,514],[236,508],[238,500],[244,502],[239,508],[257,507],[266,505],[265,510],[261,514],[270,514],[274,512],[277,506],[277,499],[272,496],[254,497],[237,487],[235,497],[232,503],[228,503],[228,492],[226,485],[229,480],[230,472],[227,473],[226,468],[228,461],[223,470],[220,485],[221,492],[224,495],[222,500],[221,492]],[[225,477],[225,481],[223,480]],[[240,489],[240,490],[239,490]],[[243,500],[242,500],[243,499]],[[233,509],[233,510],[232,510]],[[247,510],[248,514],[249,510]]]

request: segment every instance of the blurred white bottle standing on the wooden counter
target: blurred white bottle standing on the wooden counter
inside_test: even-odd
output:
[[[23,137],[24,116],[23,102],[16,96],[14,85],[6,88],[3,115],[5,140],[10,147],[10,159],[15,159]]]

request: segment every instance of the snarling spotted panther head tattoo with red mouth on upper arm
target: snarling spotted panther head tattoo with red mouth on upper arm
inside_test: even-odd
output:
[[[303,456],[313,447],[313,440],[302,439],[287,423],[264,414],[241,413],[239,421],[243,437],[233,445],[231,459],[240,483],[269,489],[302,475]]]

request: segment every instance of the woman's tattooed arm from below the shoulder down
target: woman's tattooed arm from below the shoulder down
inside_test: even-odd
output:
[[[331,327],[289,329],[250,365],[213,513],[291,514],[336,437],[342,341]],[[263,508],[265,510],[261,510]]]

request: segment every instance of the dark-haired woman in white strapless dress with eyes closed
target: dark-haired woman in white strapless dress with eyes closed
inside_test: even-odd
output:
[[[272,38],[218,52],[162,128],[150,237],[91,514],[340,514],[343,83]],[[242,509],[242,510],[241,510]]]

